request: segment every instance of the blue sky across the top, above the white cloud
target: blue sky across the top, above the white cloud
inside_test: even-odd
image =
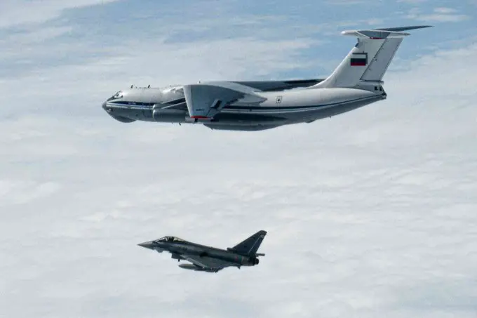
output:
[[[8,8],[8,2],[4,6]],[[41,27],[35,23],[18,24],[15,20],[1,29],[6,44],[27,44],[28,48],[26,54],[15,54],[15,47],[8,50],[11,54],[1,62],[4,76],[123,54],[137,56],[135,52],[154,49],[161,43],[191,45],[246,38],[270,44],[284,40],[307,44],[294,52],[293,60],[311,65],[275,70],[263,77],[316,77],[328,74],[335,66],[333,62],[339,61],[337,52],[344,55],[349,49],[349,39],[339,36],[344,27],[415,24],[438,27],[434,31],[439,34],[438,43],[429,34],[419,39],[410,38],[400,50],[401,59],[429,53],[436,46],[469,37],[475,34],[476,28],[473,16],[469,15],[476,9],[471,1],[324,1],[323,4],[316,4],[316,1],[300,1],[299,4],[285,1],[161,1],[160,5],[156,1],[140,1],[140,4],[110,1],[81,8],[74,8],[74,1],[70,5],[53,1],[51,7],[55,6],[59,7],[57,10],[67,6],[73,8],[65,8],[51,19],[41,20]],[[34,12],[28,14],[34,15]],[[41,32],[46,41],[41,41]],[[18,42],[18,38],[38,37],[39,34],[40,40]],[[50,47],[55,50],[45,49]],[[253,77],[253,74],[244,73],[241,77]]]

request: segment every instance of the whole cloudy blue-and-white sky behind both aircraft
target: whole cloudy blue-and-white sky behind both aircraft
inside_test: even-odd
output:
[[[3,0],[0,317],[476,317],[475,0]],[[385,101],[269,131],[115,121],[121,88],[322,78],[403,41]],[[177,267],[137,243],[260,265]]]

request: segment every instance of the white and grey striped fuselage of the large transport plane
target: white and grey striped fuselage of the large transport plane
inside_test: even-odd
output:
[[[225,105],[206,121],[189,117],[184,93],[176,88],[129,88],[121,98],[109,98],[102,107],[122,122],[152,121],[203,124],[213,129],[257,131],[287,124],[311,122],[384,100],[386,93],[357,88],[299,88],[257,91],[264,102],[238,100]]]

